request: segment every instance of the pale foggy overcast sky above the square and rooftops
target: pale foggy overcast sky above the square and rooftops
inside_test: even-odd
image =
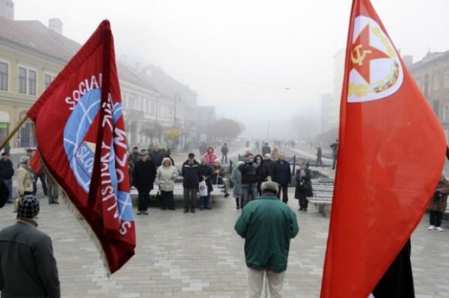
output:
[[[16,19],[64,23],[84,43],[109,19],[117,57],[161,66],[219,116],[290,119],[318,110],[345,46],[350,0],[15,0]],[[449,0],[372,0],[414,61],[449,50]],[[289,88],[289,90],[285,89]]]

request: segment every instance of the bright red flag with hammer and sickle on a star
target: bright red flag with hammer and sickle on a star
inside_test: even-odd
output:
[[[354,0],[321,297],[367,297],[441,177],[446,140],[369,0]]]

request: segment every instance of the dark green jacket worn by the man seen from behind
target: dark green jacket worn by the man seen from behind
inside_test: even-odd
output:
[[[263,196],[243,208],[234,229],[245,238],[249,268],[283,272],[287,269],[290,239],[298,234],[296,214],[277,197]]]

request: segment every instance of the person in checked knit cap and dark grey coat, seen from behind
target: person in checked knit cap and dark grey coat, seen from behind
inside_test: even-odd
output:
[[[0,231],[1,298],[61,297],[52,241],[37,229],[38,214],[37,198],[25,196],[19,201],[17,223]]]

